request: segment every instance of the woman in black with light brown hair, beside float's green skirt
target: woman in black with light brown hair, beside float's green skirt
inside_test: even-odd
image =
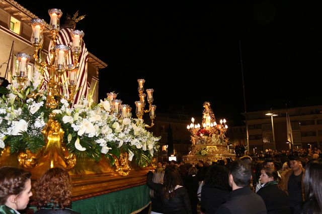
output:
[[[165,176],[164,168],[155,169],[154,173],[147,173],[146,184],[150,187],[151,214],[163,213],[162,194],[163,179]]]

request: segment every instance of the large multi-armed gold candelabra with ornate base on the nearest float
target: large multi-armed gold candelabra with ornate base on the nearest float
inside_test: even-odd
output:
[[[35,66],[39,66],[49,73],[49,82],[47,84],[47,95],[46,95],[46,108],[55,109],[58,106],[59,100],[65,98],[71,105],[73,102],[74,92],[76,89],[76,74],[79,68],[78,58],[82,53],[83,44],[83,31],[74,30],[71,31],[72,45],[67,46],[64,44],[57,44],[57,36],[60,30],[60,17],[62,12],[59,9],[48,10],[50,16],[50,36],[51,46],[49,50],[49,60],[41,60],[41,49],[43,46],[43,30],[45,22],[41,19],[32,19],[32,35],[31,43],[34,48],[33,59]],[[67,64],[67,56],[71,52],[73,57],[73,64]],[[19,83],[18,90],[22,91],[24,84],[28,79],[28,63],[31,60],[31,56],[25,53],[17,53],[16,66],[13,69],[13,76]],[[62,90],[62,75],[68,72],[68,91],[69,97],[65,97]],[[43,95],[43,92],[32,91],[27,97],[36,98],[39,95]],[[75,156],[69,154],[64,148],[63,134],[64,131],[61,129],[60,124],[54,120],[55,114],[50,113],[49,120],[43,129],[43,135],[45,137],[46,146],[44,148],[42,156],[36,156],[31,153],[21,153],[19,161],[25,167],[36,167],[42,165],[40,163],[49,162],[50,167],[56,165],[62,166],[66,169],[70,169],[75,165]],[[30,158],[33,157],[33,159]],[[37,159],[37,160],[35,160]],[[31,162],[32,160],[32,162]]]

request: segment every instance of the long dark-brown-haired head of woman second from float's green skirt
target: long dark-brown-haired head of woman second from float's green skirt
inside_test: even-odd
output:
[[[166,195],[168,199],[174,196],[174,189],[177,185],[183,185],[181,176],[176,167],[174,166],[169,166],[165,169],[165,176],[163,181],[164,185],[162,188],[162,192]]]

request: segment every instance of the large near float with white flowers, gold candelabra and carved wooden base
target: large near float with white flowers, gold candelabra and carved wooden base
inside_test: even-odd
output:
[[[155,161],[153,152],[157,152],[159,140],[146,130],[154,125],[153,89],[146,89],[149,106],[145,110],[145,80],[137,80],[137,119],[131,118],[131,107],[116,99],[114,92],[98,104],[87,99],[72,104],[84,33],[72,31],[69,46],[56,44],[62,12],[51,9],[48,13],[49,26],[41,19],[32,19],[34,54],[15,54],[12,84],[8,94],[0,98],[0,166],[23,167],[34,178],[49,167],[64,168],[72,175],[74,199],[145,183],[146,169],[154,167],[151,162]],[[47,62],[41,60],[45,27],[51,36]],[[68,55],[72,55],[73,64],[66,64]],[[29,61],[35,65],[32,79],[28,79]],[[49,72],[50,81],[47,89],[40,91],[37,83],[44,70]],[[61,80],[65,72],[69,95],[63,92],[67,90]],[[144,113],[149,113],[150,125],[144,124]],[[128,176],[130,171],[132,177]],[[82,186],[77,187],[79,184]]]

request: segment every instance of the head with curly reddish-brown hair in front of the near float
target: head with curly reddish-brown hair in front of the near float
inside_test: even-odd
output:
[[[35,182],[37,208],[52,204],[65,208],[71,204],[71,180],[67,171],[55,167],[48,169]]]

